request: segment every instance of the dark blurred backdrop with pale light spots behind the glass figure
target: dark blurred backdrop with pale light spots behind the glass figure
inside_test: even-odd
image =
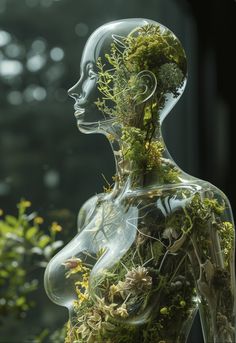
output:
[[[186,91],[164,124],[170,153],[224,191],[235,213],[235,14],[234,0],[0,0],[0,208],[14,213],[24,197],[76,234],[78,209],[114,164],[104,137],[78,132],[66,90],[98,26],[146,17],[170,28],[188,57]],[[46,316],[54,307],[45,306]],[[201,342],[199,322],[190,342]]]

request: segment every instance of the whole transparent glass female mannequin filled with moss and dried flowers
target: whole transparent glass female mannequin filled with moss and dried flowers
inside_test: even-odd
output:
[[[46,269],[48,296],[69,310],[66,341],[183,343],[199,310],[206,343],[235,342],[230,204],[161,135],[186,85],[180,42],[152,20],[111,22],[88,39],[80,73],[68,92],[77,126],[108,138],[116,174]]]

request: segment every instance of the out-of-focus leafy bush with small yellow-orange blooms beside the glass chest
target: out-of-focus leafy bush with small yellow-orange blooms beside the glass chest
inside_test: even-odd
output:
[[[30,201],[21,200],[16,216],[0,211],[0,318],[4,323],[8,317],[20,321],[35,306],[33,295],[42,287],[37,273],[63,245],[57,240],[62,227],[53,222],[45,230],[44,219],[28,213],[30,207]]]

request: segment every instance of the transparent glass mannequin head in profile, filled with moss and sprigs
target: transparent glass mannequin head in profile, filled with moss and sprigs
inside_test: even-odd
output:
[[[99,27],[83,51],[80,78],[69,89],[78,128],[98,132],[112,121],[139,127],[150,111],[166,117],[186,84],[186,57],[175,35],[147,19]]]

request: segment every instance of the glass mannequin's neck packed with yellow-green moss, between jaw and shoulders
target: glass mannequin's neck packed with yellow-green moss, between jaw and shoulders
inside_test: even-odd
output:
[[[115,121],[103,125],[102,131],[115,158],[115,190],[125,185],[133,189],[180,182],[180,169],[168,153],[160,125],[149,137],[138,128]]]

